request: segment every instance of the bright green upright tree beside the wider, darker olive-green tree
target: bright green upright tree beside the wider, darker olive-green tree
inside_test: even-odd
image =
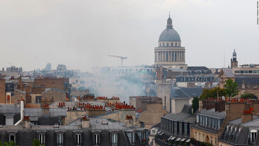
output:
[[[238,95],[238,83],[236,83],[235,81],[231,80],[231,79],[227,79],[226,81],[226,84],[225,84],[225,87],[226,87],[226,92],[227,92],[227,95],[228,97],[234,97],[236,95]]]

